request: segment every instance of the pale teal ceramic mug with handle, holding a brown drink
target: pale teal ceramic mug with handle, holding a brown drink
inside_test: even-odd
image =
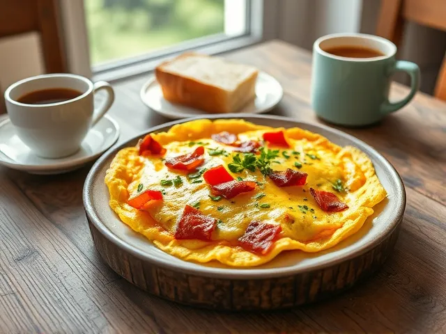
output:
[[[378,51],[382,56],[348,58],[325,50],[357,47]],[[316,115],[337,125],[359,127],[380,121],[413,99],[420,86],[420,68],[397,61],[397,47],[375,35],[336,33],[314,42],[312,107]],[[410,93],[398,102],[389,101],[390,77],[407,72]]]

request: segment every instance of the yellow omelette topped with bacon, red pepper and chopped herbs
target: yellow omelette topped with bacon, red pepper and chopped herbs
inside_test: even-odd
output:
[[[157,248],[232,267],[330,248],[386,196],[357,148],[232,119],[148,134],[116,154],[105,183],[121,221]]]

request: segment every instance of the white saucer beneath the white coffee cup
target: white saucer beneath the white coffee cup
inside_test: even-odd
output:
[[[90,129],[77,153],[60,159],[36,156],[15,134],[9,118],[0,122],[0,164],[32,174],[60,174],[84,166],[110,148],[119,136],[116,120],[104,116]]]

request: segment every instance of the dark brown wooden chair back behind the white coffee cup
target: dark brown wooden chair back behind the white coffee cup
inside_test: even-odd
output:
[[[40,35],[43,63],[47,73],[68,71],[61,38],[58,0],[1,0],[0,38],[36,31]],[[6,87],[3,87],[3,90]],[[4,111],[0,89],[0,113]]]

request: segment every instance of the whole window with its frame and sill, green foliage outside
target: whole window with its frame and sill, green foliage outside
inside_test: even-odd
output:
[[[110,80],[147,72],[186,50],[215,54],[252,44],[262,37],[263,6],[273,2],[61,1],[70,70]]]

